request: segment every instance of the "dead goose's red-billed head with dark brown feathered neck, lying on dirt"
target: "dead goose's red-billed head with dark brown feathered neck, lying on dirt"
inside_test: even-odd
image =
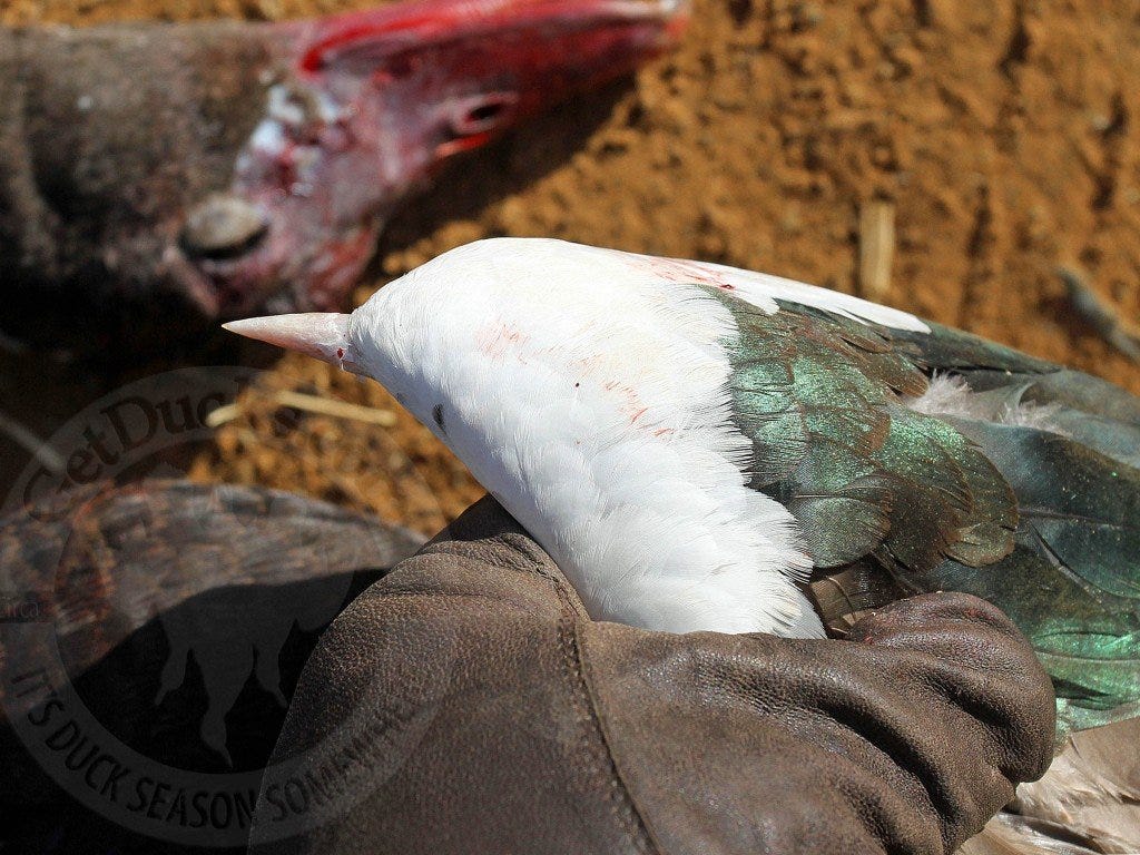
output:
[[[193,320],[340,308],[440,164],[628,73],[685,15],[430,0],[0,31],[0,343],[144,348]]]

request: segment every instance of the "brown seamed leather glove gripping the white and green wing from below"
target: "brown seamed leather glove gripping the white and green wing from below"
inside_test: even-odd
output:
[[[966,595],[899,602],[850,641],[593,621],[484,499],[325,634],[253,840],[948,853],[1042,774],[1052,703],[1028,644]]]

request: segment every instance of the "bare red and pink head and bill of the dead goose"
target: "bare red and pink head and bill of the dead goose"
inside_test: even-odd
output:
[[[186,219],[211,314],[339,308],[408,192],[659,54],[685,16],[683,0],[434,0],[304,25],[233,186]]]

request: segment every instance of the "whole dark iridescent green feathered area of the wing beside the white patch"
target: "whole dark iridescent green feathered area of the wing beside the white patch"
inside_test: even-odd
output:
[[[1140,715],[1140,401],[938,325],[715,296],[741,329],[731,391],[752,486],[800,523],[833,632],[914,593],[972,593],[1033,642],[1062,731]],[[978,393],[974,417],[906,405],[936,373]],[[1050,430],[1001,423],[1027,404]]]

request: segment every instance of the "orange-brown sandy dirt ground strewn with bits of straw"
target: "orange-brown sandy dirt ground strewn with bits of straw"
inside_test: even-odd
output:
[[[0,0],[0,23],[367,5]],[[1074,316],[1056,275],[1078,267],[1122,317],[1140,316],[1137,46],[1138,0],[698,0],[676,54],[409,203],[357,299],[478,237],[551,235],[860,293],[1140,392],[1140,368]],[[367,409],[283,420],[283,391]],[[425,532],[480,495],[378,388],[302,358],[230,415],[194,478],[290,488]]]

